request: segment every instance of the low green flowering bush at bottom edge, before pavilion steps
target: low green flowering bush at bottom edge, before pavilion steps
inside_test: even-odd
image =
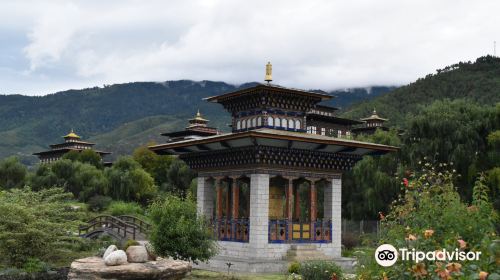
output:
[[[331,261],[307,261],[300,265],[300,275],[304,280],[342,279],[342,269]]]

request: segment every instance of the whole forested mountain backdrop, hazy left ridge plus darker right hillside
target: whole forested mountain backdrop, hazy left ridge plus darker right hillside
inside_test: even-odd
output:
[[[203,98],[252,86],[213,81],[135,82],[68,90],[47,96],[0,95],[0,158],[18,155],[35,162],[33,152],[61,141],[75,129],[84,139],[115,155],[138,145],[163,141],[159,133],[182,129],[197,109],[211,125],[227,130],[229,115]],[[388,94],[385,94],[390,92]],[[468,98],[478,104],[500,102],[500,58],[481,57],[429,74],[400,88],[336,90],[327,104],[344,116],[360,118],[376,108],[390,124],[404,126],[422,106],[435,100]]]

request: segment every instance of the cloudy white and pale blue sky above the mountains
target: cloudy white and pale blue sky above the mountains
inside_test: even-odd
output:
[[[0,94],[132,81],[401,85],[500,45],[500,1],[0,0]],[[500,46],[497,47],[500,52]]]

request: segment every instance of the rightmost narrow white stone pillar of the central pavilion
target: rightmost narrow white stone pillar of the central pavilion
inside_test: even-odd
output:
[[[341,257],[342,248],[342,177],[332,179],[331,188],[332,257]]]

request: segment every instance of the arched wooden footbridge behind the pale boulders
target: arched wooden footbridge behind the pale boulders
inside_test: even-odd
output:
[[[80,226],[78,235],[84,238],[109,235],[124,242],[128,239],[147,240],[150,230],[149,223],[134,216],[100,215],[89,220],[86,225]]]

